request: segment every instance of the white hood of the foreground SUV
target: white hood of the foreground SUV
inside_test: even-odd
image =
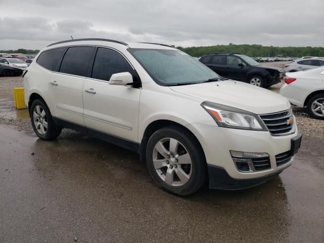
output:
[[[274,113],[290,108],[288,100],[275,92],[233,80],[170,88],[200,99],[201,102],[210,101],[256,114]]]

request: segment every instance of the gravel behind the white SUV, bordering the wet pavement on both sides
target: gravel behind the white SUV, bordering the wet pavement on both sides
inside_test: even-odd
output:
[[[282,63],[270,63],[282,66]],[[269,90],[279,92],[283,83],[273,85]],[[0,124],[6,124],[19,130],[31,130],[28,112],[25,109],[17,110],[14,107],[14,87],[23,87],[22,77],[0,77]],[[324,120],[308,117],[306,108],[292,106],[297,119],[299,131],[303,136],[324,140]]]

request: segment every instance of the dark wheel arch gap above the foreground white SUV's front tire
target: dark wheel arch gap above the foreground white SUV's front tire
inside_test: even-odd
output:
[[[158,119],[158,120],[154,120],[152,121],[145,129],[144,133],[143,133],[143,137],[141,140],[141,146],[139,148],[139,154],[140,154],[140,160],[141,161],[145,161],[145,153],[146,153],[146,145],[148,142],[148,139],[151,137],[151,135],[156,132],[157,130],[164,128],[164,127],[175,127],[175,128],[180,128],[183,129],[184,131],[187,131],[197,142],[197,144],[199,145],[201,151],[204,152],[203,146],[201,146],[199,140],[197,139],[197,137],[194,135],[194,133],[192,131],[190,131],[187,127],[185,127],[184,125],[177,123],[176,121],[173,120],[168,120],[168,119]],[[204,153],[205,156],[205,153]]]

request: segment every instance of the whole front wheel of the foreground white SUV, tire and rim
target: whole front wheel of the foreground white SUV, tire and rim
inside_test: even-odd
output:
[[[170,143],[176,149],[170,151]],[[158,160],[153,163],[153,159]],[[179,196],[194,193],[208,179],[203,149],[197,139],[182,128],[166,127],[153,133],[146,146],[146,164],[159,187]]]

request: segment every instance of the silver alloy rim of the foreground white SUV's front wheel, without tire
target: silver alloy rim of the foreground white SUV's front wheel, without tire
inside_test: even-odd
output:
[[[170,186],[182,186],[192,172],[188,150],[174,138],[159,140],[153,149],[153,166],[157,175]]]

